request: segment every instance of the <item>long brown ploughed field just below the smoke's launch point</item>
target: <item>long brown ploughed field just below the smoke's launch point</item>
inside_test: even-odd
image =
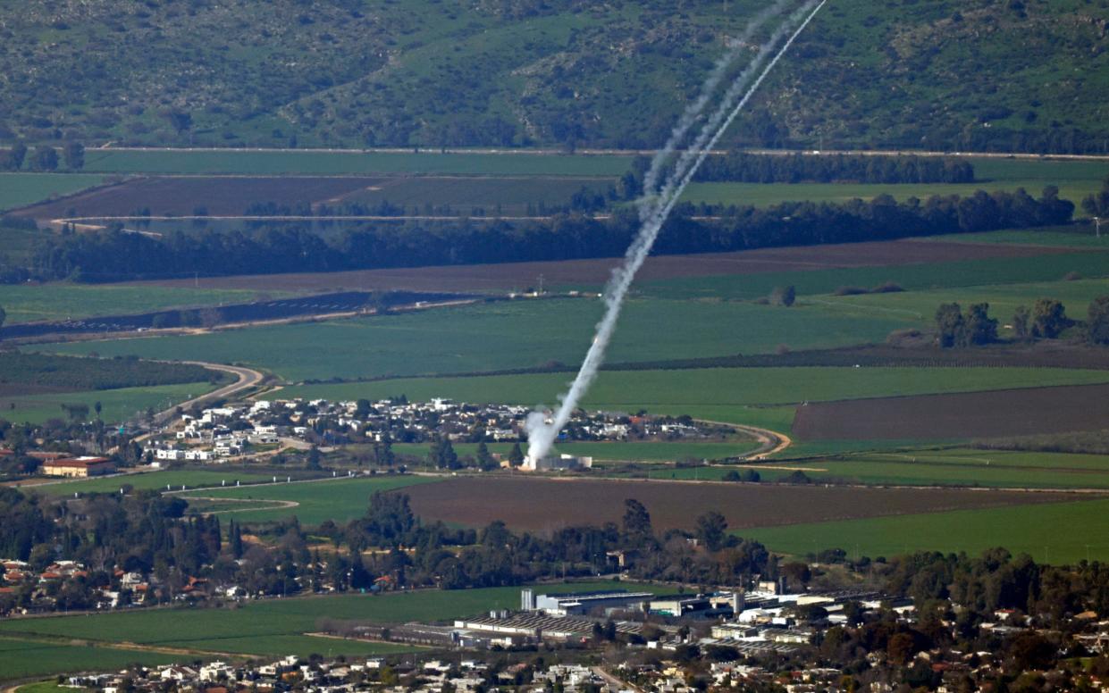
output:
[[[513,529],[619,522],[622,500],[634,498],[657,530],[693,529],[716,511],[732,529],[852,518],[996,508],[1065,499],[1055,493],[947,489],[859,489],[715,482],[459,477],[404,491],[425,521],[485,527],[503,520]]]

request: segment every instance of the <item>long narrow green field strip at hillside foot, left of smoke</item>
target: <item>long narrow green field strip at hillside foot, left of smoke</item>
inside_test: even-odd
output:
[[[85,153],[85,171],[101,173],[251,173],[277,175],[364,175],[413,173],[444,175],[622,175],[630,156],[380,153],[333,151],[112,151]]]

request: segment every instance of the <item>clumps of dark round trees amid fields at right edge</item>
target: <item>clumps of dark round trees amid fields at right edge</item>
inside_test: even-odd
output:
[[[1109,296],[1098,296],[1090,302],[1086,322],[1067,317],[1067,307],[1055,298],[1039,298],[1028,306],[1017,306],[1013,315],[1013,335],[1016,339],[1056,339],[1076,325],[1083,328],[1090,344],[1109,344]],[[945,303],[936,309],[936,334],[939,346],[968,347],[998,340],[998,322],[989,317],[989,304],[977,303],[966,313],[957,303]]]

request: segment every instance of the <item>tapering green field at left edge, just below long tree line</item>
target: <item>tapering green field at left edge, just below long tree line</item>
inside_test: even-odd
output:
[[[283,295],[286,292],[266,292],[264,297],[277,298]],[[0,306],[8,312],[9,325],[250,303],[258,297],[258,292],[243,289],[64,283],[33,286],[0,284]]]

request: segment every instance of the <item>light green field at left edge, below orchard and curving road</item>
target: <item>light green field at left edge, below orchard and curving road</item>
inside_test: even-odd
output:
[[[81,390],[48,395],[0,395],[0,418],[9,421],[42,424],[48,419],[64,419],[61,405],[84,404],[90,411],[95,402],[103,405],[101,418],[109,424],[126,421],[147,408],[155,411],[211,391],[207,383],[123,387],[112,390]],[[90,417],[94,415],[90,414]]]

